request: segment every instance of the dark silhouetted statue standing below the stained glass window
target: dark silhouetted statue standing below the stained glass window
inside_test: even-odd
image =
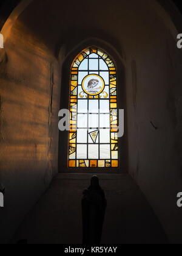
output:
[[[90,187],[83,191],[83,244],[100,244],[103,232],[107,201],[97,176],[91,179]]]

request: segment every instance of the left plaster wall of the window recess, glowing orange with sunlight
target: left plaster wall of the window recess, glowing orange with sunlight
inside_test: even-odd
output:
[[[4,243],[57,172],[60,74],[49,51],[21,24],[12,29],[0,54]]]

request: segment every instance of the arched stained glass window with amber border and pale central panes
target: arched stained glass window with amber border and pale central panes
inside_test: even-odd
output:
[[[116,68],[91,47],[76,56],[70,74],[70,168],[118,167]]]

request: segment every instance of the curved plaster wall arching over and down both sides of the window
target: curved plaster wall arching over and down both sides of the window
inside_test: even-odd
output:
[[[176,47],[177,29],[157,1],[117,3],[93,0],[92,8],[85,1],[62,5],[36,0],[11,30],[0,63],[1,179],[7,188],[3,237],[15,230],[15,221],[56,172],[61,69],[52,56],[63,45],[69,53],[82,40],[97,37],[112,44],[125,66],[125,84],[120,86],[127,92],[128,171],[170,241],[182,242],[181,209],[176,205],[177,192],[182,191],[182,54]]]

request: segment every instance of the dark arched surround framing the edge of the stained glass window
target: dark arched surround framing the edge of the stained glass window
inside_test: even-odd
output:
[[[113,46],[109,43],[105,43],[103,40],[98,38],[89,38],[79,43],[78,46],[70,51],[64,63],[62,65],[62,82],[61,82],[61,109],[69,109],[69,90],[70,90],[70,68],[72,67],[73,60],[79,52],[83,52],[86,48],[101,49],[103,52],[107,52],[107,56],[111,56],[112,60],[115,62],[116,73],[117,73],[117,91],[118,91],[118,109],[124,109],[126,107],[126,90],[125,90],[125,73],[124,65],[120,54],[115,50]],[[67,85],[67,86],[66,86]],[[126,129],[127,115],[124,116],[124,124]],[[68,134],[67,132],[59,132],[59,156],[58,156],[58,166],[59,172],[73,172],[73,168],[68,168],[67,166],[67,152],[68,152]],[[112,171],[109,168],[76,168],[74,172],[101,172],[101,173],[121,173],[127,172],[127,130],[125,130],[125,136],[118,139],[119,145],[121,146],[120,152],[120,166]],[[64,146],[62,146],[64,145]],[[101,160],[101,159],[100,159]],[[90,166],[88,166],[90,167]],[[98,167],[98,166],[97,166]]]

